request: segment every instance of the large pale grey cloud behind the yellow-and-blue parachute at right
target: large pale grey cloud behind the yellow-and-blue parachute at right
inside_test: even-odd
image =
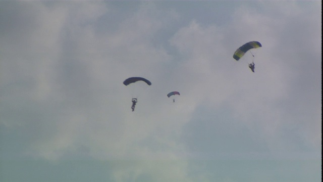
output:
[[[272,8],[272,12],[277,11],[276,6]],[[302,10],[298,6],[288,8],[291,11],[284,12],[282,10],[280,12],[281,10],[278,10],[278,14],[282,15],[282,17],[277,19],[275,14],[255,13],[247,7],[242,7],[233,14],[235,19],[231,24],[221,27],[209,26],[202,28],[197,22],[192,21],[190,25],[182,28],[172,39],[172,43],[185,59],[186,75],[193,74],[191,77],[188,76],[188,79],[194,80],[195,86],[187,88],[187,90],[190,90],[191,98],[195,101],[195,105],[204,105],[205,103],[202,104],[203,101],[217,103],[209,106],[214,110],[217,110],[222,104],[229,105],[234,109],[235,117],[240,122],[244,122],[251,130],[260,130],[261,134],[258,137],[263,138],[268,149],[275,152],[283,152],[285,151],[284,148],[287,148],[288,152],[295,148],[302,150],[297,139],[295,139],[294,143],[290,143],[290,138],[286,138],[286,131],[283,128],[293,124],[307,125],[304,122],[312,120],[311,116],[307,116],[307,118],[302,117],[301,120],[294,122],[293,120],[295,119],[291,118],[294,112],[293,106],[289,105],[286,108],[286,104],[293,100],[293,102],[299,104],[306,103],[307,107],[314,110],[319,107],[319,103],[315,104],[315,102],[309,100],[302,101],[301,97],[299,97],[301,95],[297,96],[297,90],[301,87],[293,83],[299,82],[298,80],[304,79],[304,77],[299,77],[299,72],[297,73],[299,70],[295,70],[294,65],[302,64],[304,60],[302,60],[302,57],[291,55],[291,53],[302,54],[309,52],[317,55],[317,52],[309,51],[312,48],[316,50],[319,47],[319,45],[316,45],[318,41],[315,41],[314,38],[319,36],[319,33],[310,33],[311,27],[316,26],[315,31],[319,29],[316,25],[317,19],[309,18],[315,12],[308,14],[309,12]],[[309,26],[300,25],[299,20],[305,22],[305,19],[312,19],[313,23],[308,23],[310,24]],[[293,30],[295,28],[297,29],[296,32]],[[288,29],[291,31],[290,35],[286,33],[289,32]],[[304,38],[299,36],[298,32],[302,32],[301,34],[305,35]],[[298,41],[297,44],[293,43],[295,42],[292,39],[294,37]],[[244,61],[235,62],[232,59],[235,49],[250,40],[258,40],[263,45],[257,51],[255,58],[255,74],[250,74],[250,70],[248,70]],[[289,43],[287,44],[286,41]],[[241,44],[233,44],[233,42],[241,42]],[[304,47],[303,45],[306,46]],[[226,50],[230,49],[232,49],[232,52],[226,52]],[[218,58],[221,59],[219,60]],[[252,57],[249,56],[245,60],[248,59],[250,62]],[[313,69],[315,69],[314,65],[316,67],[320,65],[319,62],[316,62],[319,59],[316,59],[310,64]],[[318,74],[319,72],[315,70],[315,75]],[[311,80],[309,77],[305,79]],[[316,78],[312,81],[310,85],[320,83]],[[312,92],[315,92],[312,96],[306,92],[302,93],[308,98],[314,99],[318,97],[319,89]],[[306,107],[301,108],[305,109]],[[308,124],[308,126],[317,126],[317,123]],[[307,138],[301,129],[289,132],[287,135],[289,134],[291,134],[290,136],[297,135],[302,140]],[[318,139],[319,134],[315,135],[315,138]],[[310,141],[303,142],[308,143]],[[316,141],[315,146],[319,144],[320,140]]]

